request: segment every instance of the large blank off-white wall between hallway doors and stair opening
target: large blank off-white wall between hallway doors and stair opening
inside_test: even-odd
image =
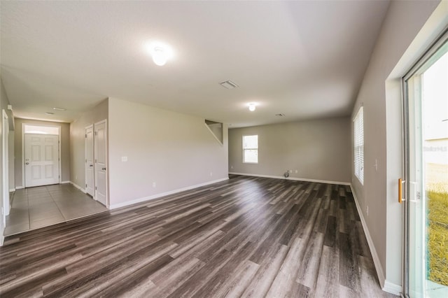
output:
[[[227,125],[223,139],[203,118],[109,98],[111,206],[228,178]]]

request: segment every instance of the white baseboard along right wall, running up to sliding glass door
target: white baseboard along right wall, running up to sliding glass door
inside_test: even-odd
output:
[[[379,256],[377,253],[377,250],[375,249],[375,246],[373,244],[372,236],[370,236],[369,229],[367,229],[367,224],[365,223],[363,212],[359,206],[358,198],[356,197],[355,192],[353,191],[353,186],[350,185],[351,194],[353,194],[353,199],[355,201],[356,210],[358,211],[359,218],[361,220],[361,224],[363,225],[365,238],[367,239],[367,243],[369,244],[370,253],[372,254],[373,264],[375,266],[375,269],[377,270],[377,276],[379,280],[379,285],[381,286],[381,290],[384,292],[391,293],[393,295],[400,296],[402,292],[401,285],[395,285],[395,283],[391,283],[390,281],[386,280],[386,277],[384,276],[384,270],[381,266],[381,262],[379,261]]]

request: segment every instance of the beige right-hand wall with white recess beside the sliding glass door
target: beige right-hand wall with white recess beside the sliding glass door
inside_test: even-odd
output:
[[[409,57],[414,58],[406,63],[401,59],[438,3],[391,2],[353,108],[354,116],[360,104],[364,105],[364,185],[360,185],[353,169],[351,180],[374,244],[372,253],[377,258],[380,283],[386,283],[386,288],[402,282],[402,208],[396,194],[402,166],[399,78],[425,47],[413,48]],[[398,64],[400,70],[395,69],[391,78]],[[353,125],[351,130],[353,134]]]

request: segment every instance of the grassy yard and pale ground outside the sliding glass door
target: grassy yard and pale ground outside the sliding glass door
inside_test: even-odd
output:
[[[448,285],[448,165],[427,164],[428,279]]]

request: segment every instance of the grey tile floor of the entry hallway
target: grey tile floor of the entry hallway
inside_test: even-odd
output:
[[[107,210],[71,184],[16,190],[10,214],[6,217],[5,236]]]

